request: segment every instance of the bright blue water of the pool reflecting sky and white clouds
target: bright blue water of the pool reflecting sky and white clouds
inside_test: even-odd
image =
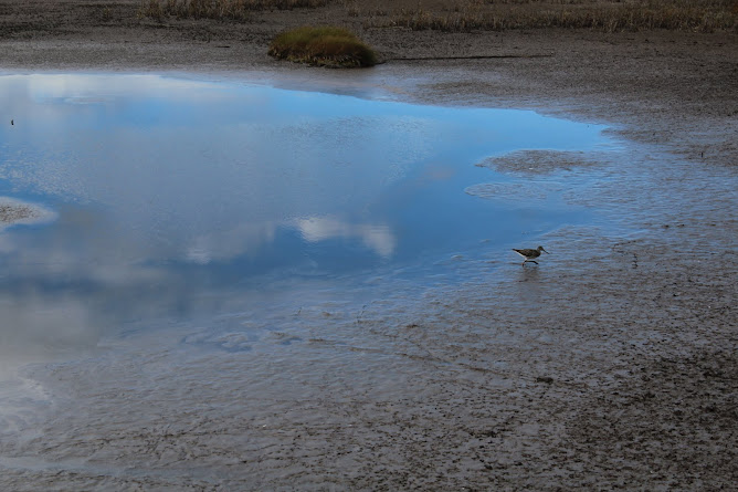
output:
[[[186,315],[277,279],[507,244],[584,212],[470,196],[506,179],[474,164],[607,145],[601,126],[533,112],[155,75],[2,76],[0,107],[0,197],[55,217],[0,231],[0,311],[15,327]]]

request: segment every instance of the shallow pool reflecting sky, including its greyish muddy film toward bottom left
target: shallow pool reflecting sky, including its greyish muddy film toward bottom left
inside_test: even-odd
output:
[[[484,165],[616,153],[603,126],[157,75],[8,75],[0,94],[0,431],[24,436],[4,467],[168,468],[134,429],[205,401],[228,419],[247,400],[266,427],[320,391],[401,395],[418,368],[362,318],[400,323],[510,247],[607,227],[567,199],[597,171],[521,187]],[[130,453],[95,441],[110,433]]]

